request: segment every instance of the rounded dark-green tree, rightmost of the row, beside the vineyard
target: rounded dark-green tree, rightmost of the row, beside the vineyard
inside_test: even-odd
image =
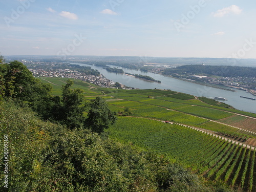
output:
[[[90,107],[86,122],[93,132],[100,134],[104,129],[108,129],[110,124],[116,122],[116,116],[101,97],[96,97],[96,99],[92,100]]]

